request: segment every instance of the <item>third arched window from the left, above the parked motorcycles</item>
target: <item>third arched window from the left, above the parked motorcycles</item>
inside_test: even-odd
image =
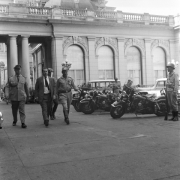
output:
[[[136,47],[127,50],[127,73],[133,84],[141,84],[141,53]]]

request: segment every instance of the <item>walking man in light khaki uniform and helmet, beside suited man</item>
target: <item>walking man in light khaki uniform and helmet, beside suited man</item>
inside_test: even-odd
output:
[[[77,91],[77,87],[74,84],[74,80],[68,76],[68,70],[71,64],[67,61],[62,64],[62,76],[57,80],[57,94],[59,103],[63,106],[63,113],[64,113],[64,121],[66,124],[69,124],[69,111],[70,105],[72,102],[72,92],[71,89],[73,88]]]

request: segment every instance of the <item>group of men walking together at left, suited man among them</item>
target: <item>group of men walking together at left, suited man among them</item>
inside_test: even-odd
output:
[[[56,81],[52,77],[51,68],[43,68],[42,76],[36,80],[35,99],[38,100],[42,109],[44,125],[49,126],[49,120],[54,120],[58,104],[62,104],[64,121],[69,124],[69,110],[72,101],[71,89],[77,91],[74,80],[68,76],[70,64],[62,64],[62,76]],[[12,103],[13,126],[17,123],[17,113],[19,110],[21,127],[25,124],[25,103],[29,98],[29,91],[26,78],[21,75],[21,66],[14,67],[15,75],[9,78],[9,99]]]

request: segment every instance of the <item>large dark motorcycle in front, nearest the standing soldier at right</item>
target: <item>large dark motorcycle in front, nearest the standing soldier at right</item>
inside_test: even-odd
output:
[[[130,92],[123,91],[116,102],[111,105],[112,118],[120,118],[125,113],[155,114],[164,116],[167,111],[165,98],[155,98],[154,95],[143,95],[131,88]]]

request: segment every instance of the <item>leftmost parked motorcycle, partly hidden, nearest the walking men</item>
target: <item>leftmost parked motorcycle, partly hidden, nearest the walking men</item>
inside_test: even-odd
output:
[[[73,94],[72,105],[77,112],[81,112],[80,101],[85,97],[89,88],[80,88],[77,93]]]

